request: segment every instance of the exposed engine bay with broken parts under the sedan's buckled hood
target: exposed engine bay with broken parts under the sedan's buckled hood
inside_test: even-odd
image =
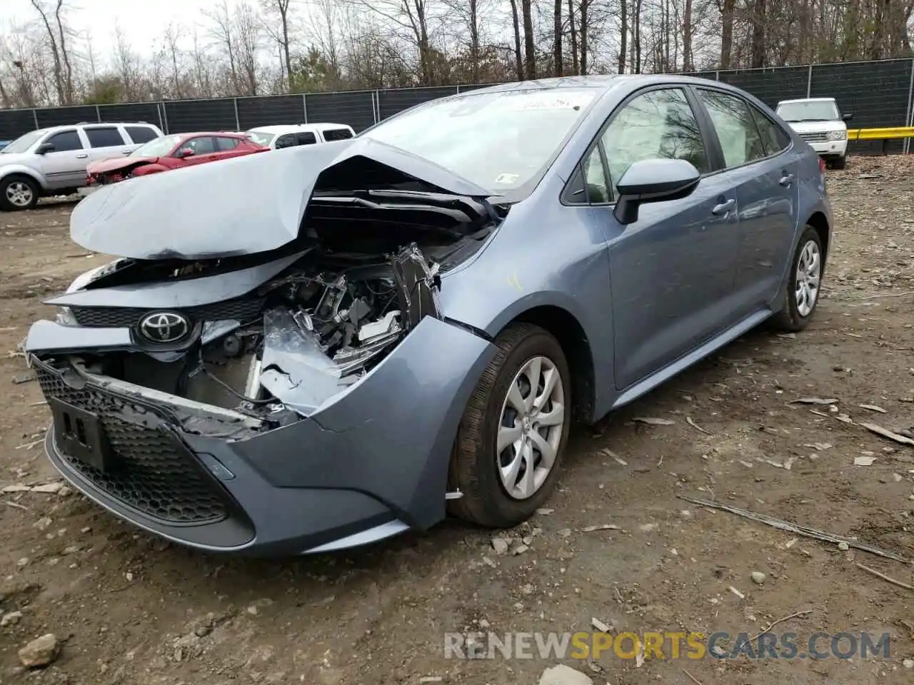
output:
[[[180,399],[185,418],[206,406],[266,427],[290,423],[369,373],[423,317],[442,318],[440,273],[482,246],[501,218],[493,214],[492,205],[469,198],[416,191],[324,196],[309,205],[300,239],[276,253],[121,259],[76,290],[183,281],[184,293],[202,279],[298,255],[228,300],[174,309],[65,305],[58,323],[129,326],[133,344],[73,349],[49,361],[112,389],[164,394],[154,399],[173,408]]]

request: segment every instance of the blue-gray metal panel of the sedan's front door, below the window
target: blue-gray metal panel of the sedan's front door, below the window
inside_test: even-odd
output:
[[[643,205],[627,227],[608,210],[618,389],[726,327],[737,217],[735,195],[713,176],[681,200]]]

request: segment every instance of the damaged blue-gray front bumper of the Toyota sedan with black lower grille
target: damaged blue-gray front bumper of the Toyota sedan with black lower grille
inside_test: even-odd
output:
[[[425,317],[356,385],[268,430],[250,416],[77,365],[55,368],[36,354],[29,363],[58,407],[48,457],[77,490],[176,543],[287,554],[441,521],[456,427],[493,354],[472,332]],[[85,412],[77,419],[97,417],[110,463],[93,465],[68,449],[58,420],[68,407]]]

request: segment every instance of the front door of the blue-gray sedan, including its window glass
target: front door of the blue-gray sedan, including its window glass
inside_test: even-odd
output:
[[[594,184],[603,157],[607,179]],[[612,188],[645,159],[685,159],[703,174],[692,195],[642,205],[622,226]],[[608,203],[595,208],[610,253],[616,387],[627,388],[689,352],[728,325],[722,306],[739,245],[736,195],[713,171],[706,134],[685,90],[664,87],[616,111],[586,165],[588,188],[603,184]],[[591,192],[595,192],[592,191]]]

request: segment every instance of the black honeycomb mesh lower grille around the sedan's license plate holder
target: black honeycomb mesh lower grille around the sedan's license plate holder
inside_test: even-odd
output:
[[[163,419],[122,395],[67,385],[57,370],[36,362],[46,397],[57,397],[101,418],[117,468],[101,471],[61,453],[71,469],[122,504],[163,522],[214,523],[228,516],[225,497],[202,467],[158,428]]]

